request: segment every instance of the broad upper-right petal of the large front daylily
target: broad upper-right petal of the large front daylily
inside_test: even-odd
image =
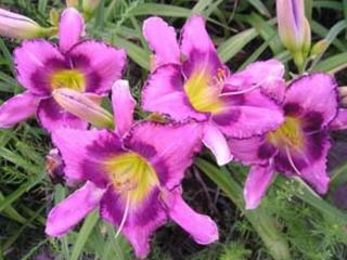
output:
[[[202,130],[195,122],[163,126],[146,121],[137,125],[125,143],[152,164],[162,185],[172,188],[200,151]]]

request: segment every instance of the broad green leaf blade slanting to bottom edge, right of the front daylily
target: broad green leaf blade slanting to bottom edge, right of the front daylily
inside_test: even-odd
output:
[[[195,165],[214,181],[227,196],[245,214],[257,231],[269,252],[275,260],[291,260],[288,243],[282,232],[275,226],[274,219],[259,206],[254,210],[245,210],[242,187],[231,177],[226,168],[217,168],[209,161],[197,158]]]

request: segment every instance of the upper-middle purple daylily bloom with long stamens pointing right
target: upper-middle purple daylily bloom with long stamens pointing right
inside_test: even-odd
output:
[[[177,121],[198,121],[203,142],[219,165],[232,159],[226,136],[249,138],[283,122],[282,112],[267,95],[273,79],[283,81],[281,63],[259,63],[268,74],[261,73],[258,80],[260,70],[253,76],[250,67],[241,82],[240,75],[230,76],[221,63],[201,16],[185,23],[180,46],[175,29],[159,17],[146,20],[143,34],[155,52],[142,92],[143,109]]]

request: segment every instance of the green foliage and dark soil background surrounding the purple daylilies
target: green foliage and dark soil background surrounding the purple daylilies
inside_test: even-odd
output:
[[[307,70],[335,74],[344,86],[347,1],[305,2],[313,41],[323,39],[326,44],[324,52],[310,57]],[[0,6],[49,26],[51,10],[60,12],[64,3],[1,0]],[[130,58],[125,78],[139,98],[150,67],[150,50],[141,35],[142,21],[158,15],[180,28],[193,13],[206,17],[218,52],[233,72],[256,60],[277,57],[287,72],[293,72],[286,75],[287,79],[295,77],[291,55],[278,36],[274,0],[102,0],[88,21],[87,35],[127,50]],[[0,39],[0,102],[22,91],[11,57],[17,44],[15,40]],[[344,134],[334,135],[334,142],[344,147]],[[0,130],[0,259],[134,259],[127,242],[121,237],[115,239],[114,227],[101,221],[97,212],[67,236],[57,239],[44,235],[47,213],[70,192],[61,184],[54,185],[44,171],[50,145],[49,136],[35,120]],[[332,203],[334,191],[347,180],[344,154],[344,148],[331,154],[333,181],[323,199],[298,180],[279,177],[261,207],[246,212],[241,188],[247,169],[236,164],[218,169],[205,153],[187,173],[184,196],[196,210],[216,219],[220,242],[201,247],[177,225],[168,224],[154,236],[149,259],[347,259],[347,213]],[[286,247],[290,258],[282,253]]]

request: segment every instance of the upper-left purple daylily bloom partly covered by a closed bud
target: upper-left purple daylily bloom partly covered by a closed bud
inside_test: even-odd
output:
[[[83,27],[80,14],[68,8],[60,21],[59,48],[44,40],[27,40],[14,51],[17,80],[27,90],[0,107],[0,127],[12,127],[35,113],[49,131],[87,127],[66,113],[52,92],[67,88],[88,96],[107,93],[121,76],[126,53],[103,42],[80,41]]]

